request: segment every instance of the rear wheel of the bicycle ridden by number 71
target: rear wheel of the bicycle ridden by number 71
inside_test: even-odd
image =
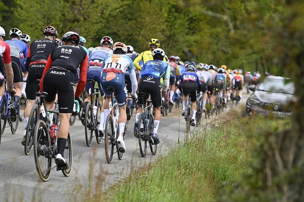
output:
[[[110,114],[108,115],[105,121],[104,137],[105,137],[105,158],[108,163],[111,163],[114,153],[114,143],[112,143],[112,141],[115,141],[115,137],[114,137],[113,118]]]

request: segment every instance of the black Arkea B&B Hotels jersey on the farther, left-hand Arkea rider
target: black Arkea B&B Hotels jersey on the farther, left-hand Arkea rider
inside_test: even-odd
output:
[[[29,47],[27,52],[27,58],[30,58],[30,62],[39,60],[47,60],[51,52],[58,46],[58,44],[51,39],[36,39]]]

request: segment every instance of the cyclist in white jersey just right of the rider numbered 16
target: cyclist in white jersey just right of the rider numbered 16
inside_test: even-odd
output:
[[[207,92],[211,90],[212,75],[208,72],[209,66],[207,64],[199,64],[199,69],[196,72],[199,81],[202,83],[201,91],[203,93],[203,111],[206,111]],[[186,102],[183,103],[186,106]]]

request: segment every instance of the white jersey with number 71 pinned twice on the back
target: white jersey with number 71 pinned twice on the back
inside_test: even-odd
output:
[[[129,56],[111,54],[107,56],[102,64],[103,72],[125,73],[126,69],[134,69],[133,61]]]

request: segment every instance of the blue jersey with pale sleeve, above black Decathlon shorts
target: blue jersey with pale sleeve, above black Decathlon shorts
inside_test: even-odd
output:
[[[171,66],[167,62],[161,60],[149,60],[143,65],[139,78],[152,76],[161,79],[161,77],[164,76],[164,79],[169,79],[170,72]]]

